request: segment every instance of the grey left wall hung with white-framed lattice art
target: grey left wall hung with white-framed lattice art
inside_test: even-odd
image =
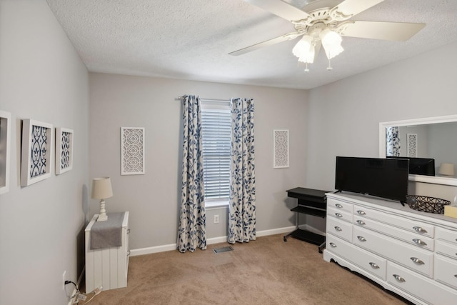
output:
[[[0,109],[12,121],[10,191],[0,195],[0,304],[66,304],[62,274],[76,281],[83,263],[88,72],[44,0],[0,1],[0,47]],[[21,119],[74,129],[73,170],[21,187]]]

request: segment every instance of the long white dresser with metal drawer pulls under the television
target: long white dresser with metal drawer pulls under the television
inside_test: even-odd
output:
[[[327,194],[326,249],[415,304],[457,304],[457,219],[358,194]]]

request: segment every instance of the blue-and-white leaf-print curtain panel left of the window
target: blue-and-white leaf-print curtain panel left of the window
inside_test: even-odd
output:
[[[181,211],[177,248],[180,252],[206,249],[203,155],[201,152],[201,102],[184,96]]]

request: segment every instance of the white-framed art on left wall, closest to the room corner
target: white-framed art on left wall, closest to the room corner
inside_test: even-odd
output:
[[[73,129],[56,128],[56,175],[73,169]]]

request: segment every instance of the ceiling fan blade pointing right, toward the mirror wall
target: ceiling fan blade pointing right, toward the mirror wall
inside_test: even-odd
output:
[[[425,25],[402,22],[346,21],[338,27],[341,29],[341,26],[347,26],[341,31],[341,36],[406,41]]]

